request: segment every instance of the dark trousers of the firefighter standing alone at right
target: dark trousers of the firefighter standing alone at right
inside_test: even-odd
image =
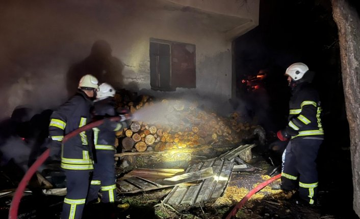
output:
[[[314,204],[318,189],[316,158],[321,139],[292,139],[285,152],[284,170],[281,174],[281,189],[297,189],[299,196],[309,204]]]

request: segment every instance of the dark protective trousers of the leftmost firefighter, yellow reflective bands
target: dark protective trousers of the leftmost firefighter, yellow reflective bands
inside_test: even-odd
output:
[[[66,196],[61,213],[62,219],[76,219],[83,216],[89,189],[90,172],[86,170],[65,170]]]

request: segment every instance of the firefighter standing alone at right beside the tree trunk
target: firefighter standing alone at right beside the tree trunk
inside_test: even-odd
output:
[[[301,62],[286,70],[292,89],[289,123],[277,132],[281,141],[290,140],[285,150],[281,189],[294,191],[298,185],[300,200],[308,204],[314,204],[316,200],[318,172],[315,160],[324,139],[319,95],[311,84],[314,74]]]

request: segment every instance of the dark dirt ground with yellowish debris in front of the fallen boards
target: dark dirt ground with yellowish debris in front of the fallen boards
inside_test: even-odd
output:
[[[225,218],[253,187],[270,178],[267,174],[274,168],[264,159],[264,155],[259,154],[253,154],[251,164],[261,170],[249,173],[233,173],[223,196],[216,201],[194,206],[184,211],[177,211],[172,206],[161,203],[161,200],[171,189],[133,196],[123,195],[120,201],[129,203],[130,208],[121,212],[122,217],[119,218]],[[341,169],[341,166],[338,168]],[[337,193],[333,193],[333,189],[331,189],[331,185],[335,185],[336,182],[329,182],[326,183],[328,186],[320,187],[318,203],[314,206],[303,205],[297,202],[296,198],[287,199],[280,190],[273,190],[272,187],[275,186],[272,185],[279,185],[279,183],[280,180],[276,180],[253,195],[234,218],[358,218],[352,212],[352,206],[348,202],[339,202],[333,208],[335,203],[329,200],[340,198],[334,196]]]

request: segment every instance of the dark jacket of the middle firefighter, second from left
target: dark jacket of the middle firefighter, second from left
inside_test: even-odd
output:
[[[95,119],[106,119],[116,116],[115,103],[112,97],[94,102]],[[115,132],[119,131],[123,125],[121,122],[106,120],[101,126],[93,128],[94,143],[96,150],[115,150]]]

